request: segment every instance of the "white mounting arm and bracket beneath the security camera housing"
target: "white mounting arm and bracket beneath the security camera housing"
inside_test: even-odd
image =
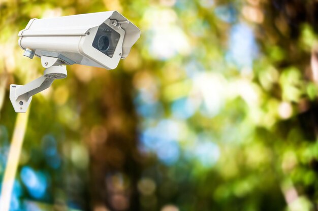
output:
[[[41,63],[46,68],[43,76],[24,86],[10,85],[10,100],[15,112],[25,113],[33,95],[49,88],[55,79],[63,79],[68,75],[66,66],[63,64],[69,63],[60,58],[42,56]]]

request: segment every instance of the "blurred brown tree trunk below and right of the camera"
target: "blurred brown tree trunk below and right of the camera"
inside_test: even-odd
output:
[[[120,70],[103,72],[96,72],[103,80],[79,84],[81,116],[90,125],[86,142],[91,206],[93,210],[139,210],[140,164],[131,78]]]

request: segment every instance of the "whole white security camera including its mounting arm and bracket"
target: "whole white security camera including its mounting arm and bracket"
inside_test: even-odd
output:
[[[67,77],[65,65],[83,64],[114,69],[130,53],[140,29],[117,11],[31,19],[19,32],[24,56],[41,58],[44,75],[24,86],[10,85],[10,100],[25,113],[32,96],[55,79]]]

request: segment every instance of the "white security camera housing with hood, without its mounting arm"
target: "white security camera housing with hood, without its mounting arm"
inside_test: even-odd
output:
[[[103,33],[110,37],[106,47],[112,49],[108,50],[108,55],[92,45],[94,39],[99,39]],[[31,19],[19,32],[19,37],[20,47],[39,57],[58,57],[67,64],[114,69],[120,58],[128,56],[140,37],[140,30],[117,11],[110,11]],[[117,44],[112,46],[112,42]],[[98,41],[100,43],[103,41]]]

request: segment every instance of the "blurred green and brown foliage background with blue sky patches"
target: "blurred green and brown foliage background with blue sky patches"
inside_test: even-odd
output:
[[[18,31],[109,10],[141,38],[34,96],[11,210],[318,210],[314,0],[0,1],[0,175],[9,84],[43,71]]]

